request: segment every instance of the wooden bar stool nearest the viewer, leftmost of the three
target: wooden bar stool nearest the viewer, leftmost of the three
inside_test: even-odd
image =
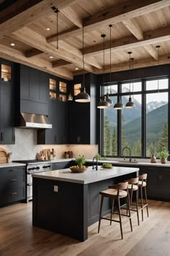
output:
[[[99,194],[102,196],[101,197],[101,204],[100,204],[100,210],[99,210],[99,227],[98,227],[98,233],[100,229],[100,223],[101,219],[103,218],[104,220],[110,221],[110,225],[112,224],[112,221],[120,223],[120,231],[121,231],[121,236],[123,239],[122,235],[122,218],[121,216],[127,216],[130,220],[130,228],[131,231],[133,231],[133,226],[132,226],[132,221],[131,221],[131,215],[130,215],[130,197],[129,197],[129,192],[128,192],[128,182],[122,182],[117,185],[109,186],[109,189],[104,190],[102,192],[99,192]],[[103,201],[104,197],[109,197],[111,199],[111,216],[110,218],[104,218],[102,217],[102,207],[103,207]],[[121,209],[120,209],[120,198],[127,198],[127,204],[128,204],[128,214],[122,214]],[[119,221],[113,220],[112,219],[112,214],[115,212],[113,211],[114,209],[114,202],[117,200],[117,207],[118,207],[118,214],[119,215]]]

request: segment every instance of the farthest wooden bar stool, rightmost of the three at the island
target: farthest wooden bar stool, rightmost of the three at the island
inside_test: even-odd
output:
[[[147,194],[146,194],[146,179],[147,179],[147,174],[142,174],[139,176],[138,186],[140,188],[142,221],[143,221],[143,208],[145,208],[145,207],[146,207],[147,216],[148,216],[148,199],[147,199]],[[143,205],[143,190],[144,190],[145,200],[146,200],[144,205]]]

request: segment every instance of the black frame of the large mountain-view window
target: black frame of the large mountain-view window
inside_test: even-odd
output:
[[[168,138],[170,137],[170,77],[169,76],[161,76],[161,77],[151,77],[151,78],[144,78],[138,80],[131,80],[131,81],[121,81],[121,82],[113,82],[112,85],[117,85],[117,93],[109,94],[109,96],[118,96],[120,98],[124,95],[129,95],[129,93],[122,93],[122,84],[125,83],[133,83],[133,82],[141,82],[141,91],[133,92],[133,95],[141,95],[141,156],[131,155],[132,158],[150,158],[146,156],[146,95],[151,93],[158,93],[158,90],[146,90],[146,82],[151,80],[168,80],[168,88],[167,89],[160,89],[159,93],[168,93]],[[105,85],[107,86],[107,85]],[[104,92],[104,86],[101,85],[101,92]],[[116,110],[114,110],[116,111]],[[129,110],[130,111],[130,110]],[[117,155],[104,155],[104,111],[101,110],[100,115],[100,124],[101,124],[101,137],[99,142],[100,154],[104,157],[109,158],[122,158],[121,155],[121,127],[122,127],[122,114],[121,110],[117,110]],[[170,140],[168,140],[168,150],[170,151]]]

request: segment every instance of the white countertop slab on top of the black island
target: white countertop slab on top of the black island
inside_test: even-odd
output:
[[[99,170],[92,170],[89,168],[84,173],[75,174],[71,172],[70,168],[55,170],[55,171],[45,171],[37,174],[32,174],[32,177],[40,179],[52,179],[62,182],[72,182],[79,184],[89,184],[94,182],[99,182],[104,179],[112,179],[117,176],[122,176],[125,174],[131,174],[133,172],[139,171],[139,168],[133,167],[114,167],[114,168],[102,168],[99,166]]]

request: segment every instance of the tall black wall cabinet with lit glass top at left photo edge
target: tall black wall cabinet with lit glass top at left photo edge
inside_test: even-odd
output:
[[[0,144],[14,144],[14,64],[3,59],[0,64]]]

